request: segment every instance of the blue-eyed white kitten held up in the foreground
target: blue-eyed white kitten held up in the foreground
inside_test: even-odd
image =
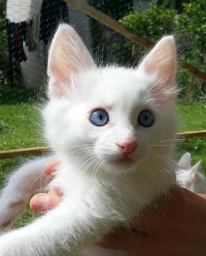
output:
[[[2,192],[0,225],[12,222],[38,185],[59,186],[64,197],[2,235],[1,256],[76,255],[167,192],[175,182],[175,73],[173,36],[163,37],[138,68],[98,68],[74,29],[59,26],[42,114],[61,165],[50,182],[42,174],[48,158],[17,170]]]

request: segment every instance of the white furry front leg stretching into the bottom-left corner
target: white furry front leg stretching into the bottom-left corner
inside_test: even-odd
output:
[[[110,226],[95,217],[87,203],[64,201],[30,225],[2,235],[0,255],[73,255],[99,241]]]

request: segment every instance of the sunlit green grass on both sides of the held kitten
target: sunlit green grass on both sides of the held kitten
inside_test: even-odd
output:
[[[41,135],[37,129],[37,115],[32,101],[38,98],[39,92],[25,89],[7,89],[0,87],[0,150],[42,146]],[[187,103],[177,100],[176,109],[180,120],[179,131],[206,130],[206,108],[198,103]],[[36,111],[36,110],[35,110]],[[177,140],[176,158],[185,152],[192,154],[192,162],[203,160],[202,171],[206,174],[206,138],[193,137]],[[0,187],[3,186],[5,176],[22,161],[18,159],[0,160]],[[25,211],[15,223],[23,223],[35,216],[29,209]]]

